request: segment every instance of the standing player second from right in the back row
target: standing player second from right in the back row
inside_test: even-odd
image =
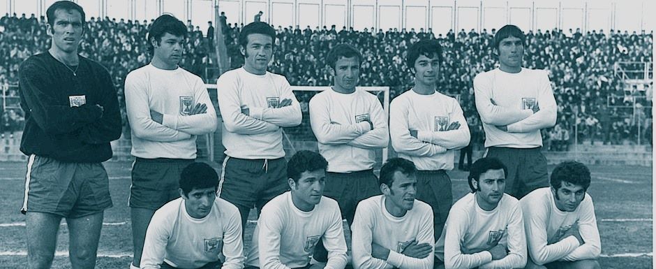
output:
[[[417,199],[433,208],[437,239],[453,203],[446,171],[454,168],[454,152],[469,144],[469,127],[458,101],[436,91],[442,63],[438,41],[413,44],[406,63],[415,87],[392,101],[389,134],[398,156],[417,166]]]

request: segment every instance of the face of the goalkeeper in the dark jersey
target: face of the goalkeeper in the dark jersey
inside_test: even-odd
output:
[[[52,27],[47,24],[47,33],[52,37],[52,49],[66,53],[77,53],[82,40],[82,14],[77,10],[54,10]]]

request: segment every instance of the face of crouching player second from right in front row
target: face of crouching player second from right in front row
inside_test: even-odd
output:
[[[506,175],[503,169],[487,170],[482,173],[478,182],[473,182],[476,191],[476,201],[484,210],[493,210],[501,201],[506,189]]]

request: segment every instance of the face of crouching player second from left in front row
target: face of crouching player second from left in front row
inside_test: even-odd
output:
[[[301,173],[298,182],[289,179],[292,201],[297,208],[310,211],[321,201],[326,186],[326,171],[323,169]]]

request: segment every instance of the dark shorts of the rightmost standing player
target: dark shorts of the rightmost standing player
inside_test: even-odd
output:
[[[506,193],[522,198],[535,189],[549,187],[549,172],[542,147],[514,149],[510,147],[489,147],[486,157],[495,157],[508,168]]]

